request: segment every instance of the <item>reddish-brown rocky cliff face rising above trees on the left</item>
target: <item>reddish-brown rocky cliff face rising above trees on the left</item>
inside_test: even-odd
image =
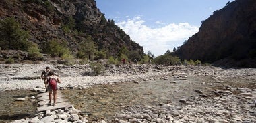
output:
[[[143,47],[131,41],[114,21],[106,20],[94,0],[3,0],[0,17],[15,17],[22,29],[30,32],[30,41],[41,48],[46,41],[57,39],[77,51],[78,44],[90,37],[110,55],[116,55],[121,47],[143,54]]]

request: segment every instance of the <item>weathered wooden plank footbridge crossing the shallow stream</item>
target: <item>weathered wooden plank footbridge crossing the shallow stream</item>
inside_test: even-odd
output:
[[[53,95],[52,95],[52,98],[53,98]],[[65,108],[65,107],[69,108],[73,106],[69,104],[69,102],[67,102],[67,100],[65,99],[65,96],[63,96],[60,91],[58,91],[58,94],[57,94],[57,100],[55,104],[56,106],[47,105],[47,103],[49,102],[48,92],[39,93],[38,101],[39,102],[38,102],[37,112],[42,112],[46,110],[56,110],[56,109]],[[53,102],[53,99],[52,99],[52,102]]]

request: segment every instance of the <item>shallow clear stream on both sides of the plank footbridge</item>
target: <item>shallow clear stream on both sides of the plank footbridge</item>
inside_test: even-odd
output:
[[[181,98],[198,96],[193,89],[201,89],[201,84],[209,78],[169,78],[168,80],[150,80],[139,83],[125,82],[92,86],[85,90],[60,90],[84,116],[90,121],[113,120],[116,113],[129,106],[154,106],[165,103],[177,104]],[[36,102],[30,97],[36,92],[11,91],[0,92],[0,122],[10,122],[28,118],[36,114]],[[24,102],[15,101],[24,98]]]

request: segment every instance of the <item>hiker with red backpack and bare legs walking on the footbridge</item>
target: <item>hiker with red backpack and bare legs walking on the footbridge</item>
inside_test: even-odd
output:
[[[51,101],[52,101],[52,92],[53,92],[53,106],[56,106],[56,99],[57,99],[57,82],[61,83],[61,79],[57,76],[55,76],[55,74],[53,72],[49,72],[48,76],[45,80],[45,82],[47,83],[47,90],[49,91],[49,102],[48,105],[51,105]]]

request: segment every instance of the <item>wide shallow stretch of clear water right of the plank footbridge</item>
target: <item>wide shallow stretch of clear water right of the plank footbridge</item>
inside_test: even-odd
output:
[[[147,82],[132,82],[116,85],[98,85],[86,90],[63,90],[62,93],[84,114],[89,114],[90,120],[112,120],[117,112],[127,106],[153,106],[164,103],[179,103],[179,99],[195,96],[193,89],[199,82],[190,78],[187,80],[153,80]],[[192,85],[192,86],[191,86]]]

